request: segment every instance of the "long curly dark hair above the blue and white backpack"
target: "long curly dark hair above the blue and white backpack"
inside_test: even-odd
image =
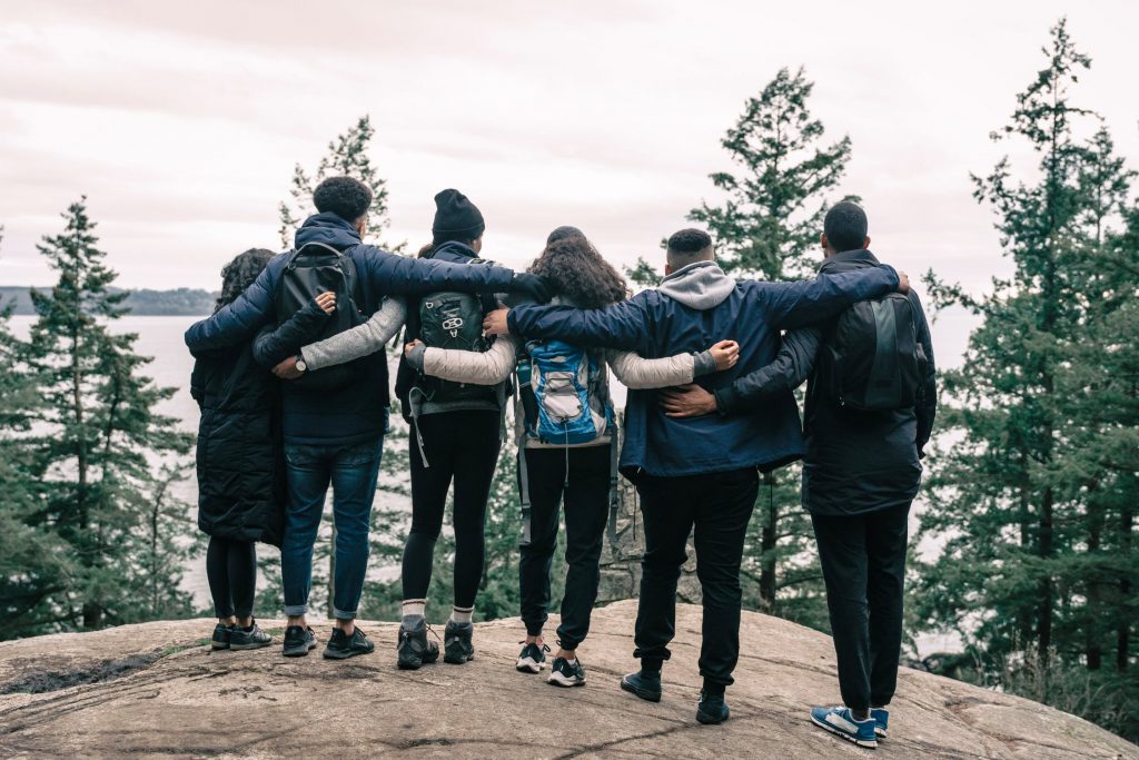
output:
[[[582,309],[604,309],[629,297],[625,278],[580,232],[547,243],[527,271]]]

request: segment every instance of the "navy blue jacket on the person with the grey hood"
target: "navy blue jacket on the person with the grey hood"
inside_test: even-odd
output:
[[[683,271],[666,278],[662,288]],[[716,341],[735,340],[740,351],[736,367],[696,381],[714,391],[775,359],[780,329],[819,321],[898,287],[898,273],[888,267],[810,283],[732,281],[722,272],[720,276],[728,289],[712,308],[685,305],[662,289],[645,291],[603,310],[521,305],[510,310],[510,333],[634,350],[648,359],[703,351]],[[798,407],[790,391],[754,414],[687,419],[666,417],[656,391],[629,392],[621,471],[632,480],[641,473],[666,477],[746,467],[771,469],[802,456]]]

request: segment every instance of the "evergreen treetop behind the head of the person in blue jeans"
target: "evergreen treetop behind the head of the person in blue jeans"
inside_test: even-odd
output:
[[[374,240],[379,240],[379,236],[387,229],[391,221],[387,218],[387,181],[379,175],[368,155],[371,139],[375,136],[376,130],[371,125],[371,117],[364,114],[346,132],[338,134],[335,140],[328,144],[328,153],[320,160],[314,172],[304,171],[301,164],[294,166],[289,199],[281,201],[278,206],[280,214],[278,234],[281,238],[281,245],[292,246],[296,228],[306,216],[317,213],[317,210],[312,207],[312,191],[316,187],[329,177],[342,174],[354,177],[371,188],[368,236]],[[388,246],[377,242],[376,245],[393,253],[402,253],[405,247],[404,243]]]

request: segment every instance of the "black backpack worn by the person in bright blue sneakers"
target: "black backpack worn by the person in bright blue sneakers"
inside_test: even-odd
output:
[[[820,352],[826,395],[853,409],[915,406],[925,368],[913,303],[902,293],[849,308],[838,316]]]

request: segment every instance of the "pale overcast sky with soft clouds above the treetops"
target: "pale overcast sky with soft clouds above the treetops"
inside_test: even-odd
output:
[[[835,196],[862,196],[875,251],[978,289],[1007,265],[969,172],[1027,158],[988,134],[1064,14],[1093,59],[1076,98],[1139,165],[1133,0],[552,5],[0,0],[0,284],[51,280],[34,244],[85,194],[121,284],[215,288],[279,247],[293,165],[362,114],[390,239],[426,242],[458,187],[506,264],[563,223],[616,262],[659,256],[716,198],[745,98],[802,65],[827,138],[853,141]]]

